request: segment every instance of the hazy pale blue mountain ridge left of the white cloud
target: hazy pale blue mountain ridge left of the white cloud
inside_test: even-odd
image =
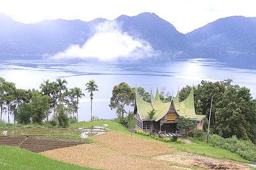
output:
[[[36,24],[22,24],[0,15],[0,54],[42,55],[54,54],[72,44],[83,45],[93,35],[95,25],[106,19],[90,22],[82,20],[43,20]]]

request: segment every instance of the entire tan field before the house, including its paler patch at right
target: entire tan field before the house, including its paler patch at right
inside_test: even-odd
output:
[[[92,139],[96,143],[49,150],[42,154],[64,162],[99,169],[247,168],[234,162],[182,153],[165,143],[118,132],[108,132]]]

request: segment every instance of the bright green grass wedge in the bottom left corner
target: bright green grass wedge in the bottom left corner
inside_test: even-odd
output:
[[[91,169],[13,146],[0,146],[0,169]]]

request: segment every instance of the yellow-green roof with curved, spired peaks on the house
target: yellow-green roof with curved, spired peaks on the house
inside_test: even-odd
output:
[[[138,112],[141,120],[148,120],[148,112],[152,111],[152,109],[155,109],[156,111],[156,114],[154,115],[153,120],[155,121],[160,120],[168,112],[172,102],[174,102],[175,109],[180,116],[184,116],[185,118],[191,118],[196,120],[202,120],[203,118],[205,118],[204,115],[197,115],[195,113],[193,89],[189,93],[188,98],[186,98],[182,102],[179,102],[179,91],[177,93],[177,96],[174,99],[172,98],[171,102],[166,102],[166,103],[161,102],[158,88],[156,91],[156,97],[153,96],[152,91],[150,95],[151,95],[151,103],[145,102],[140,97],[136,89],[136,106],[138,108]]]

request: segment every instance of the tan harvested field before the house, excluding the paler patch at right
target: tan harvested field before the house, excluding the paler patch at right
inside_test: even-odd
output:
[[[99,169],[184,169],[152,157],[175,150],[164,143],[118,132],[92,137],[97,143],[45,151],[58,160]]]

